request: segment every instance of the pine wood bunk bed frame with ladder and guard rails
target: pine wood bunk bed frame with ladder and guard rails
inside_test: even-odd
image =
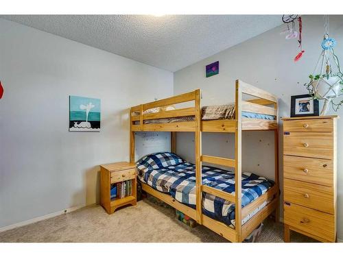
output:
[[[250,99],[244,100],[246,96]],[[252,98],[252,99],[251,99]],[[279,217],[279,164],[278,164],[278,99],[274,95],[261,90],[240,80],[235,84],[235,103],[233,106],[216,106],[202,108],[201,91],[199,89],[182,95],[176,95],[167,99],[141,104],[130,109],[130,161],[134,160],[134,134],[135,132],[171,132],[171,151],[176,149],[176,132],[194,132],[196,146],[195,168],[195,200],[193,205],[182,203],[173,194],[163,193],[153,188],[151,184],[144,183],[141,177],[141,186],[143,191],[150,193],[154,197],[165,201],[177,210],[185,213],[197,223],[206,226],[217,234],[231,242],[241,242],[252,230],[272,212],[275,212],[275,219]],[[187,108],[169,108],[168,106],[182,105],[190,103]],[[210,113],[206,115],[206,109],[211,111],[221,110],[225,115]],[[215,119],[206,119],[214,117]],[[272,119],[270,117],[273,117]],[[242,172],[241,172],[241,136],[242,131],[261,131],[270,130],[274,132],[275,149],[275,171],[274,183],[265,187],[265,191],[254,197],[252,201],[243,203],[242,197]],[[220,132],[235,134],[235,158],[221,158],[217,156],[202,155],[202,132]],[[202,162],[208,164],[220,165],[234,169],[231,171],[230,180],[235,186],[231,191],[222,190],[217,186],[211,186],[211,183],[203,183],[206,180],[206,174],[202,173],[204,169],[211,167],[202,167]],[[187,164],[186,164],[187,165]],[[167,168],[167,167],[165,167]],[[222,169],[216,169],[215,172],[225,173]],[[243,181],[246,175],[243,175]],[[243,191],[244,192],[244,191]],[[215,219],[203,208],[209,195],[219,197],[223,201],[233,203],[235,224],[228,225],[220,219]],[[202,199],[205,197],[206,199]],[[206,206],[205,206],[206,207]],[[210,217],[211,216],[211,217]]]

